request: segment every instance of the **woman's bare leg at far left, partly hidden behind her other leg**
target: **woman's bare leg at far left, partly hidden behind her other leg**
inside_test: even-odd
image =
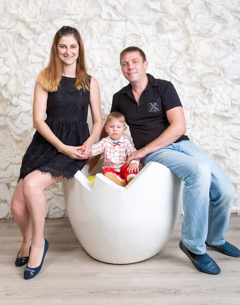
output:
[[[22,181],[19,181],[11,202],[12,216],[21,230],[23,241],[18,256],[29,256],[32,242],[32,225],[29,211],[22,194]]]

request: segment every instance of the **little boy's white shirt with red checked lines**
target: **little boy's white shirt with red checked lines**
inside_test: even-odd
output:
[[[117,143],[117,144],[116,144]],[[115,171],[121,171],[121,167],[127,161],[127,157],[132,151],[136,151],[133,142],[121,137],[118,141],[113,141],[109,136],[100,140],[92,146],[92,155],[103,154],[103,168],[111,167]],[[130,164],[139,165],[139,159],[130,161]]]

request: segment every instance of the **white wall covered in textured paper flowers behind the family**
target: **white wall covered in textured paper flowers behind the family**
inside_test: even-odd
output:
[[[0,218],[22,156],[35,132],[34,84],[57,29],[71,25],[84,41],[89,74],[101,88],[102,114],[126,80],[118,57],[142,48],[148,72],[170,80],[184,105],[187,134],[224,169],[240,212],[240,5],[237,0],[3,0],[0,2]],[[89,122],[91,116],[89,116]],[[66,215],[61,184],[46,192],[46,216]]]

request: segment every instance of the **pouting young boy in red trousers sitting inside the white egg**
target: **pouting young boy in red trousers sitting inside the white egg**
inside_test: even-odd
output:
[[[139,171],[139,160],[132,160],[129,166],[126,162],[128,155],[136,151],[133,142],[123,137],[126,129],[124,115],[117,111],[111,112],[105,124],[108,137],[93,145],[91,155],[103,154],[102,174],[122,187],[126,187]]]

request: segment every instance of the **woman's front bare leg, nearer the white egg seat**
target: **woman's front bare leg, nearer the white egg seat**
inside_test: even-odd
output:
[[[44,252],[44,223],[46,198],[43,191],[59,178],[50,174],[34,171],[23,180],[22,192],[32,221],[32,245],[28,261],[29,268],[36,268],[41,264]]]

